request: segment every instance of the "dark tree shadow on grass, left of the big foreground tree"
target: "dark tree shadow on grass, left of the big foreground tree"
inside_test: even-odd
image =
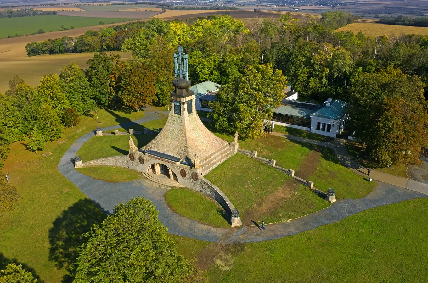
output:
[[[107,218],[106,212],[92,200],[85,198],[73,203],[53,221],[48,238],[49,260],[55,262],[57,268],[70,267],[76,262],[77,247],[83,244],[83,234],[89,232],[93,224],[100,224]],[[64,276],[63,282],[69,280]]]

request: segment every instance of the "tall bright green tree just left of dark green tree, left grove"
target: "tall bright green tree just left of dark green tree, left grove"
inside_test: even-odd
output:
[[[70,106],[80,115],[86,113],[94,104],[94,100],[92,100],[92,91],[88,79],[77,62],[72,61],[62,67],[59,78],[62,81],[62,88]]]

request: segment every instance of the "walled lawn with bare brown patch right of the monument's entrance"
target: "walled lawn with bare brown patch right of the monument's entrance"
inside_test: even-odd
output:
[[[241,153],[214,168],[205,178],[232,201],[241,212],[244,225],[252,224],[252,220],[285,221],[329,206],[291,177]]]

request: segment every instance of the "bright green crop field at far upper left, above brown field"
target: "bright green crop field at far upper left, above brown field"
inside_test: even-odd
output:
[[[113,24],[134,19],[119,18],[95,18],[95,17],[74,17],[60,15],[43,15],[34,17],[2,18],[0,19],[0,38],[15,34],[23,35],[37,32],[43,29],[45,32],[60,30],[61,25],[70,27],[90,27],[97,25],[100,21],[104,24]]]

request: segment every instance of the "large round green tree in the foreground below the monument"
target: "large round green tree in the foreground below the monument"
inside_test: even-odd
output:
[[[74,283],[184,282],[194,268],[177,254],[175,242],[149,200],[119,203],[86,233],[74,266]]]

